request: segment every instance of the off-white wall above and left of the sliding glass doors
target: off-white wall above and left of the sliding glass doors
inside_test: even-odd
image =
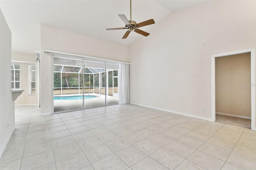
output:
[[[52,55],[44,49],[129,61],[128,47],[41,25],[41,114],[52,113]],[[48,77],[48,81],[44,80]],[[45,108],[45,105],[48,108]]]

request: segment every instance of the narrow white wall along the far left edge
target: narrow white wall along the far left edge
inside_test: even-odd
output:
[[[11,46],[11,32],[0,9],[0,156],[15,129],[11,92]]]

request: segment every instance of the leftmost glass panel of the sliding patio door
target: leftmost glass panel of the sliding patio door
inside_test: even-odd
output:
[[[82,59],[54,57],[54,112],[83,109]]]

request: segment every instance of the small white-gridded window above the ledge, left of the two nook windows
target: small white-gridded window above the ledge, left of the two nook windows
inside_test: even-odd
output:
[[[20,64],[12,64],[12,89],[20,89]]]

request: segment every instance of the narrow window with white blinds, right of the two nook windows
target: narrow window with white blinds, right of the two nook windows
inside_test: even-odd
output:
[[[36,95],[36,65],[28,65],[28,95]]]

